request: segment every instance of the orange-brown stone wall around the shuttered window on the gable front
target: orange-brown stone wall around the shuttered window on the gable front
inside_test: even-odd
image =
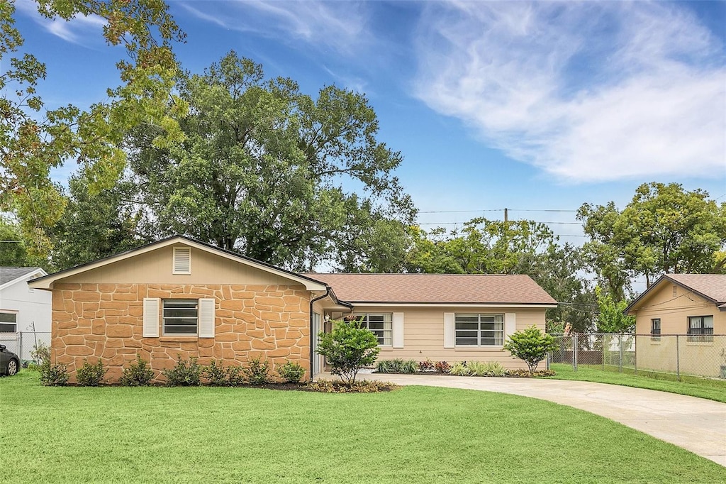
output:
[[[143,337],[144,297],[216,299],[215,337]],[[287,361],[310,367],[309,293],[302,286],[79,284],[53,288],[52,360],[68,365],[70,382],[88,358],[108,368],[106,380],[118,382],[122,368],[139,353],[149,361],[156,381],[177,355],[212,359],[225,366],[253,358],[273,368]],[[161,333],[160,333],[161,334]]]

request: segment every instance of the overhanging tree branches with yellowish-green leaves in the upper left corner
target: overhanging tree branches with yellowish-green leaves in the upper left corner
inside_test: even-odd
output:
[[[36,0],[38,12],[57,22],[93,15],[104,22],[111,46],[125,47],[117,63],[121,85],[107,99],[83,110],[73,105],[48,109],[38,86],[46,68],[23,52],[15,26],[15,1],[0,1],[0,210],[13,211],[28,250],[46,254],[47,227],[60,219],[65,198],[50,179],[51,169],[76,161],[92,189],[110,187],[123,169],[123,134],[141,123],[160,126],[154,142],[181,139],[174,121],[185,105],[171,97],[176,61],[171,44],[183,34],[162,0]],[[171,101],[171,102],[170,102]],[[171,109],[170,109],[171,106]]]

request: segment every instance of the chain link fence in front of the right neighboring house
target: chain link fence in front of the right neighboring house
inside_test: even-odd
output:
[[[548,363],[726,379],[726,335],[552,334]]]

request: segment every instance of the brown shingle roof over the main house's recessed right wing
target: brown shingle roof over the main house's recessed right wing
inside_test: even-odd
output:
[[[529,275],[303,274],[348,302],[557,304]]]

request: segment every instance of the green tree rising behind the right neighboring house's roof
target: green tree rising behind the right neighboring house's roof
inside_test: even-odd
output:
[[[703,190],[643,184],[622,211],[613,202],[585,203],[578,218],[590,236],[584,250],[616,302],[633,277],[650,286],[664,273],[725,270],[719,251],[726,246],[726,203],[719,206]]]

